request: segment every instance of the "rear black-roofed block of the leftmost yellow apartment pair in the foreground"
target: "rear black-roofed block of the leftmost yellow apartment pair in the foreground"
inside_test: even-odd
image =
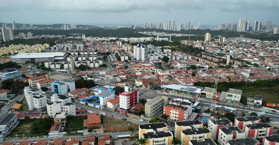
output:
[[[167,131],[168,126],[165,122],[161,123],[148,123],[148,124],[139,124],[139,139],[148,132],[156,131]]]

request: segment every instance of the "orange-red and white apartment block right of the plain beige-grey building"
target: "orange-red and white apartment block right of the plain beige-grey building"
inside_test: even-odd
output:
[[[167,103],[164,106],[164,114],[168,115],[171,120],[183,121],[188,119],[189,108]]]

